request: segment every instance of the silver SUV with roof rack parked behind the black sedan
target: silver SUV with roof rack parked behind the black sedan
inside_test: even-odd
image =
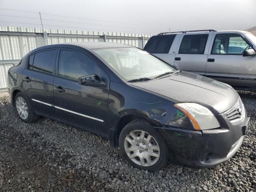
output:
[[[160,33],[144,50],[180,70],[236,88],[256,90],[256,37],[246,31],[196,30]]]

